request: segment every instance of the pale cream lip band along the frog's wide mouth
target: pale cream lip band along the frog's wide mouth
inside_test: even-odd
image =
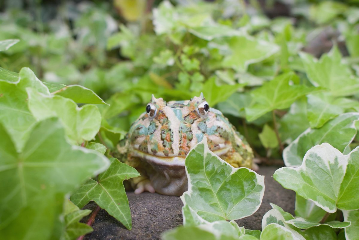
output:
[[[213,151],[217,156],[222,156],[230,150],[230,146]],[[150,163],[164,166],[185,166],[186,156],[161,157],[133,149],[132,156],[144,159]]]

